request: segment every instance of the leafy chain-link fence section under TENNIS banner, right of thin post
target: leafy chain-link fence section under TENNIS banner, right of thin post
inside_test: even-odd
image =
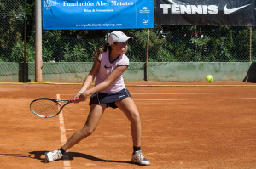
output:
[[[252,34],[254,33],[254,38]],[[164,26],[150,33],[148,61],[248,62],[255,57],[255,28]],[[253,43],[254,42],[254,43]]]

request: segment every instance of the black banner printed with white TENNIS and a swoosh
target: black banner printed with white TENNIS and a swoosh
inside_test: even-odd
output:
[[[155,0],[155,25],[255,25],[255,0]]]

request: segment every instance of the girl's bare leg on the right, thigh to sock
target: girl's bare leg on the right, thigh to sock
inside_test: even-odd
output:
[[[137,106],[134,103],[133,99],[125,98],[115,103],[120,110],[122,110],[129,121],[131,121],[131,136],[133,141],[133,146],[141,146],[141,137],[142,137],[142,126],[139,111]]]

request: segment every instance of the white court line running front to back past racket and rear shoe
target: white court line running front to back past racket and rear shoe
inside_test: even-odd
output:
[[[57,99],[61,99],[60,94],[57,94]],[[61,145],[63,145],[67,142],[67,138],[66,138],[66,129],[65,129],[65,125],[64,125],[64,118],[63,118],[62,110],[61,110],[61,113],[59,114],[59,121],[60,121],[60,130],[61,130]],[[63,165],[64,165],[64,169],[71,169],[68,154],[63,155]]]

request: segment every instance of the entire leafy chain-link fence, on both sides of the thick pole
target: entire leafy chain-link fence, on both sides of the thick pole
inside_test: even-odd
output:
[[[0,62],[34,62],[33,3],[2,0],[0,14]],[[43,61],[92,62],[92,54],[108,42],[110,31],[113,30],[43,31]],[[172,25],[123,31],[134,37],[127,53],[131,62],[249,62],[256,59],[255,27]]]

